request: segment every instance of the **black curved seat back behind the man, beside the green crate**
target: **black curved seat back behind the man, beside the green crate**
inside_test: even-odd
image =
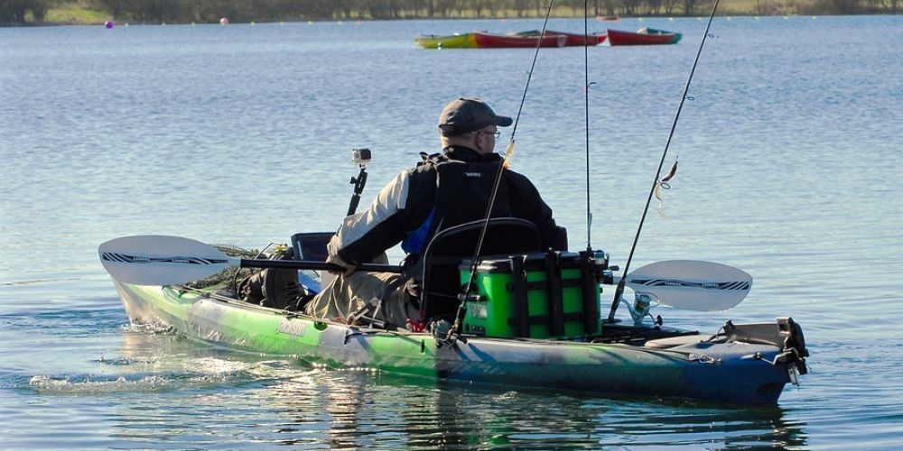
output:
[[[420,293],[421,318],[453,321],[461,291],[461,260],[472,259],[485,220],[452,226],[433,236],[426,245],[423,288]],[[513,255],[542,251],[539,229],[526,219],[497,217],[489,220],[480,256]]]

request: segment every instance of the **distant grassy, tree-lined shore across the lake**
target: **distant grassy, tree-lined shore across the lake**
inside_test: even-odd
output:
[[[179,0],[174,0],[178,2]],[[279,2],[284,0],[269,0]],[[844,4],[843,2],[847,2]],[[831,16],[831,15],[893,15],[899,11],[888,10],[880,0],[833,0],[830,7],[836,5],[848,5],[836,11],[828,8],[825,0],[721,0],[719,5],[719,17],[793,17],[793,16]],[[340,2],[339,2],[340,3]],[[492,2],[487,3],[487,5]],[[683,0],[670,7],[662,9],[661,6],[652,8],[633,6],[636,10],[644,9],[648,14],[636,14],[636,10],[624,9],[618,0],[613,1],[611,10],[594,8],[591,6],[590,14],[593,23],[617,23],[616,21],[596,21],[596,17],[619,17],[620,19],[646,19],[646,18],[682,18],[707,16],[711,5],[703,4],[703,0]],[[686,5],[694,5],[688,7]],[[135,6],[130,10],[119,10],[116,13],[104,5],[107,2],[96,0],[70,0],[49,3],[46,0],[23,0],[18,6],[0,6],[0,26],[79,26],[79,25],[103,25],[107,21],[116,24],[130,25],[189,25],[189,24],[219,24],[222,18],[227,18],[228,23],[319,23],[319,22],[373,22],[396,20],[508,20],[508,19],[536,19],[545,17],[545,10],[535,8],[515,10],[511,8],[501,10],[491,9],[465,9],[448,8],[445,14],[437,14],[436,11],[427,11],[423,8],[414,10],[377,11],[373,8],[365,10],[339,9],[331,6],[326,10],[313,8],[303,9],[276,9],[263,11],[253,8],[240,8],[227,4],[211,5],[202,0],[194,4],[182,5],[172,10],[156,9],[143,10]],[[174,4],[173,4],[174,5]],[[228,7],[221,7],[226,5]],[[287,3],[285,5],[288,5]],[[336,4],[338,5],[338,3]],[[591,5],[600,5],[599,1]],[[618,14],[619,9],[622,10]],[[611,11],[614,14],[611,14]],[[694,14],[684,14],[693,11]],[[599,14],[595,14],[595,13]],[[439,12],[442,13],[442,12]],[[552,17],[555,19],[582,18],[582,7],[574,9],[558,5],[554,8]]]

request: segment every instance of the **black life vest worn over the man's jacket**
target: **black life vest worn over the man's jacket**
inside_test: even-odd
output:
[[[485,218],[498,165],[502,163],[501,160],[453,160],[442,153],[422,153],[421,156],[424,161],[418,163],[418,168],[429,165],[436,172],[436,193],[429,216],[402,242],[405,253],[421,253],[436,232]],[[492,205],[492,217],[511,216],[505,171],[502,171],[501,177]]]

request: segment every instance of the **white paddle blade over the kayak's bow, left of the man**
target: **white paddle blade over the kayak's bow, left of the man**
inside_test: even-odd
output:
[[[198,281],[239,264],[209,244],[179,236],[123,236],[100,244],[98,253],[114,279],[135,285]]]

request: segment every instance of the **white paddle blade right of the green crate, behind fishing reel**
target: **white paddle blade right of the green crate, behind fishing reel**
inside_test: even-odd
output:
[[[752,288],[752,276],[726,264],[670,260],[628,274],[627,286],[666,306],[712,311],[735,307]]]

